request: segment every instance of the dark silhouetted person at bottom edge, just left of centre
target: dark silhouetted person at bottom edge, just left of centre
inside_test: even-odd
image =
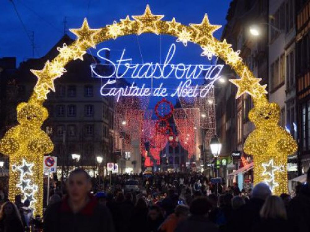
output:
[[[133,214],[131,216],[130,232],[145,232],[148,228],[147,222],[148,207],[143,198],[137,200]]]

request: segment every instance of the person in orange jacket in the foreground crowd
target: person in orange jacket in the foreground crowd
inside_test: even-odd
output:
[[[175,207],[175,212],[170,214],[170,216],[160,225],[160,232],[174,232],[176,226],[180,221],[188,218],[189,207],[184,204],[177,205]]]

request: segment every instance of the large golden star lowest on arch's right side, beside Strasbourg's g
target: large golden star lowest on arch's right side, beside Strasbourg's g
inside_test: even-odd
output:
[[[239,98],[242,94],[247,93],[252,97],[255,97],[253,87],[256,84],[259,84],[260,78],[253,78],[249,76],[248,71],[245,69],[243,71],[242,77],[238,79],[229,79],[234,85],[238,87],[238,91],[236,94],[236,99]]]

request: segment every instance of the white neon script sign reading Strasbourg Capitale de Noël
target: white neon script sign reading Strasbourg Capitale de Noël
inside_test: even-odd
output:
[[[105,64],[91,64],[91,72],[93,77],[104,78],[107,81],[102,85],[100,93],[102,96],[114,96],[117,101],[121,96],[159,96],[159,97],[205,97],[213,84],[220,77],[224,65],[206,65],[206,64],[184,64],[171,63],[175,55],[175,44],[171,44],[165,61],[161,63],[132,63],[131,58],[125,58],[125,49],[118,60],[113,62],[102,55],[102,52],[110,51],[109,48],[102,48],[97,52],[98,57],[104,60]],[[98,65],[108,65],[111,68],[108,74],[102,72],[103,69],[98,68]],[[101,72],[100,72],[101,70]],[[129,78],[132,81],[124,82],[125,86],[117,87],[117,79]],[[165,87],[165,81],[168,78],[179,80],[178,86],[168,93],[168,88]],[[137,80],[150,79],[159,80],[159,86],[149,87],[145,83],[138,86]],[[195,80],[202,80],[205,84],[200,85],[194,83]]]

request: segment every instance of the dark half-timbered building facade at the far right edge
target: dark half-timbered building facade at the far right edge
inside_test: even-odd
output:
[[[296,101],[299,174],[310,167],[310,1],[296,0]]]

